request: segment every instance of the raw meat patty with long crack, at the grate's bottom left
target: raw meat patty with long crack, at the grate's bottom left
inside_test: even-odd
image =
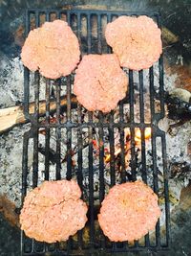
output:
[[[66,241],[84,227],[86,203],[74,180],[44,181],[25,198],[21,210],[21,229],[40,242]]]

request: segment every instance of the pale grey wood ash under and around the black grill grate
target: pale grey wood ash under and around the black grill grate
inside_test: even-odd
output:
[[[0,93],[1,98],[1,107],[8,107],[20,103],[23,99],[23,66],[19,58],[8,59],[1,53],[1,66],[0,71]],[[157,65],[154,67],[154,74],[156,84],[159,84],[159,70]],[[172,90],[175,87],[174,81],[175,77],[165,76],[165,89]],[[145,97],[145,121],[150,122],[150,104],[149,104],[149,77],[147,71],[144,72],[144,97]],[[135,113],[136,120],[139,121],[139,105],[138,105],[138,74],[134,77],[135,82]],[[54,86],[54,85],[53,85]],[[45,82],[42,79],[40,82],[40,100],[45,99],[44,89]],[[158,88],[156,87],[158,91]],[[62,86],[61,94],[66,93],[66,87]],[[33,101],[33,89],[31,90],[31,102]],[[159,105],[156,104],[156,109]],[[119,119],[119,110],[118,107],[115,110],[115,122],[118,122]],[[85,109],[82,110],[83,120],[88,120],[88,115]],[[107,120],[107,115],[104,117]],[[129,118],[129,105],[124,104],[124,120],[127,121]],[[73,110],[73,122],[76,122],[78,119],[77,111]],[[169,127],[172,123],[171,120],[165,119],[165,126]],[[66,121],[66,115],[63,113],[63,122]],[[94,113],[94,121],[98,121],[98,114]],[[172,171],[172,165],[174,163],[186,163],[188,166],[191,166],[191,158],[187,152],[187,145],[191,138],[191,129],[190,122],[185,123],[180,128],[173,128],[171,133],[166,131],[166,146],[167,146],[167,157],[168,157],[168,166]],[[16,128],[12,128],[10,131],[5,132],[0,137],[0,193],[6,194],[11,201],[15,202],[17,207],[21,205],[21,179],[22,179],[22,153],[23,153],[23,135],[26,131],[30,129],[30,125],[22,125]],[[104,129],[103,143],[105,155],[109,152],[109,131]],[[89,140],[88,140],[88,130],[83,130],[83,145],[82,145],[82,154],[83,154],[83,189],[84,189],[84,198],[88,198],[89,195]],[[99,157],[98,157],[98,130],[94,130],[94,141],[97,145],[94,145],[94,195],[95,199],[98,198],[98,189],[99,189]],[[51,141],[50,149],[52,154],[56,151],[56,130],[53,128],[51,130]],[[77,141],[77,130],[73,129],[72,131],[72,155],[68,154],[67,151],[67,133],[63,128],[61,131],[60,139],[60,150],[61,150],[61,178],[65,178],[67,175],[67,157],[72,161],[72,175],[73,178],[76,178],[78,166],[77,166],[77,152],[78,141]],[[45,178],[45,155],[43,154],[43,149],[45,148],[45,135],[39,133],[39,164],[38,164],[38,184],[42,183]],[[119,132],[115,130],[115,148],[119,147]],[[160,207],[163,211],[164,209],[164,200],[163,200],[163,168],[161,162],[161,142],[157,140],[157,149],[158,149],[158,171],[159,171],[159,201]],[[140,149],[139,149],[140,150]],[[32,189],[32,160],[33,160],[33,141],[29,140],[29,155],[28,155],[28,190]],[[56,161],[50,160],[50,179],[55,179],[55,170],[56,170]],[[153,186],[153,173],[152,173],[152,156],[151,156],[151,141],[146,141],[146,168],[148,175],[148,184]],[[104,164],[104,180],[105,180],[105,189],[106,193],[108,192],[111,184],[111,172],[110,172],[110,163]],[[116,182],[121,181],[121,173],[118,170],[116,165]],[[141,179],[141,157],[138,153],[138,163],[137,163],[137,176],[138,179]],[[189,169],[190,170],[190,169]],[[127,180],[131,177],[131,168],[128,164],[128,159],[126,161],[126,173]],[[130,177],[129,177],[130,175]],[[182,175],[180,178],[177,178],[176,175],[169,175],[169,185],[170,185],[170,202],[171,210],[180,200],[180,191],[182,187],[188,184],[190,178],[190,172]],[[164,221],[165,216],[162,215],[161,223]]]

